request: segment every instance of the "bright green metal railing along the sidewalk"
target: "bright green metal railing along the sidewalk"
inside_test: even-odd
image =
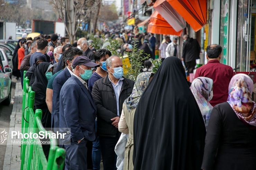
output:
[[[24,71],[25,75],[26,71]],[[37,109],[34,112],[35,92],[29,86],[29,79],[25,78],[23,82],[22,97],[22,125],[21,132],[39,133],[46,132],[42,124],[42,110]],[[47,131],[47,133],[54,133]],[[38,135],[39,136],[39,135]],[[21,170],[62,170],[65,162],[66,152],[63,148],[57,146],[56,139],[49,139],[50,150],[48,160],[45,157],[40,139],[21,139]]]

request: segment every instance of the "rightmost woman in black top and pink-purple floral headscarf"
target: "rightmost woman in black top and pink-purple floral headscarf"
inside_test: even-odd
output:
[[[221,88],[221,87],[219,87]],[[211,112],[203,155],[203,170],[255,170],[256,118],[253,81],[236,74],[229,83],[228,101]]]

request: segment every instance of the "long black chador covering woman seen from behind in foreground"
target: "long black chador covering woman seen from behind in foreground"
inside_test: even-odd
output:
[[[168,57],[134,116],[134,170],[201,170],[205,126],[182,63]]]

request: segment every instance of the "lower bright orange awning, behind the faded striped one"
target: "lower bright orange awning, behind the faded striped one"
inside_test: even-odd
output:
[[[176,32],[173,27],[157,11],[155,11],[150,16],[150,23],[148,24],[147,32],[181,36],[182,31],[183,30]]]

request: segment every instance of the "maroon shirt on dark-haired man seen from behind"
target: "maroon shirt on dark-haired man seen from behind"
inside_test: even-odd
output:
[[[213,98],[210,101],[212,106],[227,101],[228,85],[233,76],[232,67],[221,64],[218,60],[208,61],[195,72],[195,78],[208,77],[213,80]]]

